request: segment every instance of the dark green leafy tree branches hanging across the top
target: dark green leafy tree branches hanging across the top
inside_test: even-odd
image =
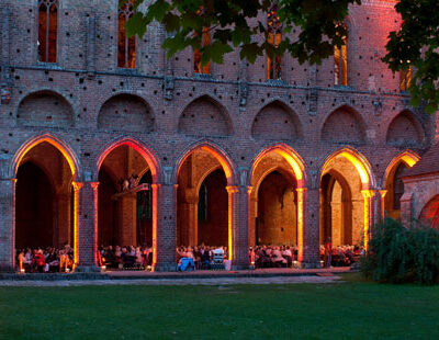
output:
[[[122,1],[124,5],[128,0]],[[167,32],[162,47],[170,58],[192,47],[202,52],[202,64],[222,64],[224,55],[239,50],[241,59],[255,63],[264,54],[273,57],[289,53],[299,63],[319,64],[344,44],[346,27],[340,25],[350,4],[361,0],[133,0],[135,13],[127,22],[128,35],[143,36],[153,21]],[[146,5],[145,5],[146,4]],[[267,16],[277,5],[284,34],[275,48],[267,42]],[[391,32],[383,61],[393,71],[414,67],[412,104],[423,101],[428,112],[439,106],[439,1],[399,0],[395,5],[403,24]],[[211,44],[203,46],[202,32],[212,32]],[[257,39],[264,35],[266,39]]]

